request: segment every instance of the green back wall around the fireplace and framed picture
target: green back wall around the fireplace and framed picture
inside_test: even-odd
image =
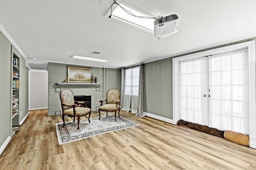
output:
[[[62,82],[67,78],[67,66],[77,66],[91,68],[91,74],[98,77],[98,86],[59,86],[56,82]],[[121,69],[119,68],[99,68],[90,66],[78,66],[70,64],[48,64],[48,115],[62,113],[60,104],[60,93],[55,88],[70,89],[74,95],[92,96],[92,111],[97,110],[100,106],[100,100],[106,98],[106,91],[111,88],[120,90]],[[100,87],[100,91],[96,91],[96,87]]]

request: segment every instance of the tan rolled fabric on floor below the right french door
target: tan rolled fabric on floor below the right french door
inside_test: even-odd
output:
[[[246,147],[250,146],[249,135],[244,135],[242,133],[237,133],[234,131],[224,131],[224,137],[228,141],[244,145]]]

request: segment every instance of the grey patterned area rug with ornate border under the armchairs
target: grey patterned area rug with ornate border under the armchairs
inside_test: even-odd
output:
[[[98,117],[96,117],[90,119],[90,121],[91,123],[89,123],[88,119],[80,120],[80,129],[77,129],[77,121],[65,122],[66,126],[64,127],[62,127],[63,123],[56,123],[55,126],[59,145],[112,131],[138,126],[137,123],[123,117],[116,116],[115,121],[114,115],[101,117],[100,120]]]

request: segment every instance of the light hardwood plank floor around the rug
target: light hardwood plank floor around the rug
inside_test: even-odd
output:
[[[60,115],[30,111],[1,154],[0,169],[256,169],[256,149],[150,117],[124,111],[120,116],[140,126],[58,145],[55,123],[62,122]]]

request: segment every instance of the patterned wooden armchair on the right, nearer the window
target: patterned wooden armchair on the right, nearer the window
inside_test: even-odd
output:
[[[102,103],[106,102],[102,106]],[[107,98],[105,100],[100,100],[100,107],[99,107],[99,115],[100,111],[106,111],[108,116],[108,111],[114,111],[115,112],[115,121],[116,121],[116,111],[118,110],[118,116],[120,117],[120,91],[117,89],[110,89],[107,92]],[[99,118],[100,120],[100,118]]]

